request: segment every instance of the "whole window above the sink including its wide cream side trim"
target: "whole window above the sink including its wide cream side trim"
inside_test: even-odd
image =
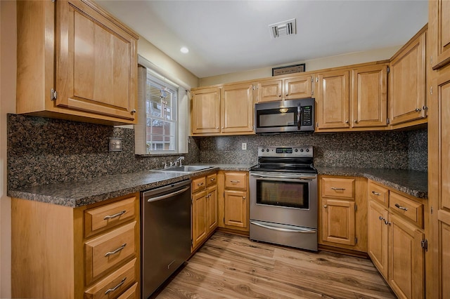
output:
[[[179,79],[167,79],[168,75],[139,56],[138,123],[134,125],[136,154],[188,152],[191,87]]]

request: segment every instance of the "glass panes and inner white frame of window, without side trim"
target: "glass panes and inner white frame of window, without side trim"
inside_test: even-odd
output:
[[[176,152],[178,87],[147,70],[146,148],[150,152]]]

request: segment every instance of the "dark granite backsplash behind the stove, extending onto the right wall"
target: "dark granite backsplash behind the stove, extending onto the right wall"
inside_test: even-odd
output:
[[[198,138],[202,163],[257,163],[257,147],[313,145],[315,166],[428,171],[427,129]],[[247,142],[247,150],[241,150]]]

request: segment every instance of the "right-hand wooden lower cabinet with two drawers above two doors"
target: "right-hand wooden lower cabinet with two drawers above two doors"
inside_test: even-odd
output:
[[[368,255],[373,264],[399,298],[425,298],[424,202],[371,180],[368,197]]]

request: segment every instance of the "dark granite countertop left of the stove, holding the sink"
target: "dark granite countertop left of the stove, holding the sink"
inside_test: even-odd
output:
[[[51,185],[25,187],[18,190],[8,190],[8,197],[42,201],[49,204],[70,206],[77,208],[94,204],[114,197],[150,190],[168,185],[172,182],[188,180],[190,178],[206,175],[213,171],[249,171],[253,165],[249,164],[191,164],[212,166],[204,171],[191,173],[176,171],[139,171],[136,173],[122,173],[105,175],[90,180],[77,180],[75,182],[59,182]]]

